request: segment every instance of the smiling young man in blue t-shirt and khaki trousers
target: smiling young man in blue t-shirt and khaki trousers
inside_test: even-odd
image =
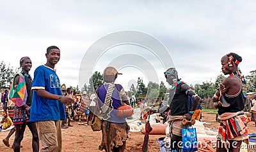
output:
[[[49,46],[45,53],[47,62],[36,68],[32,84],[33,93],[30,121],[36,121],[40,151],[61,151],[61,121],[65,120],[65,106],[72,99],[64,96],[60,79],[54,69],[60,60],[60,49]]]

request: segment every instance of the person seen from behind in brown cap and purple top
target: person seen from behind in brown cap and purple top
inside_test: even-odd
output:
[[[120,100],[130,105],[123,86],[114,83],[118,74],[122,73],[118,73],[115,67],[106,67],[103,73],[104,85],[96,90],[103,113],[102,142],[99,149],[106,152],[124,151],[129,132],[125,118],[116,115],[116,109],[121,106]]]

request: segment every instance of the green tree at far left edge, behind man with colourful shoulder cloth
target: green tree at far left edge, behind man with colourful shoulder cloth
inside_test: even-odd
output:
[[[10,67],[10,64],[6,65],[3,61],[0,62],[0,87],[10,88],[10,85],[17,71],[17,69]]]

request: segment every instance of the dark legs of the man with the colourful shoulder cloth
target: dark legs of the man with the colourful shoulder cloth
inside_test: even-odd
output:
[[[32,137],[33,152],[38,152],[39,151],[39,139],[38,139],[38,133],[36,130],[35,122],[28,122],[28,123],[24,122],[22,125],[15,125],[16,132],[15,132],[15,144],[13,146],[13,151],[15,151],[15,152],[20,151],[20,142],[23,139],[26,125],[28,125],[28,128],[33,136]]]

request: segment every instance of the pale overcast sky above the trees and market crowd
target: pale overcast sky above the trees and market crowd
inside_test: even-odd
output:
[[[256,1],[0,2],[1,60],[19,67],[20,57],[29,56],[33,76],[46,62],[46,48],[56,45],[61,50],[57,74],[67,86],[79,85],[81,64],[94,65],[86,72],[92,74],[122,62],[118,69],[123,75],[116,82],[126,89],[138,77],[146,84],[155,79],[152,75],[165,81],[163,73],[172,60],[189,85],[214,82],[221,74],[220,59],[229,52],[243,57],[239,67],[244,75],[256,69]],[[140,44],[116,45],[95,51],[101,53],[97,62],[89,60],[93,53],[84,57],[99,39],[118,31],[148,34],[168,53]],[[170,63],[161,56],[170,56]]]

